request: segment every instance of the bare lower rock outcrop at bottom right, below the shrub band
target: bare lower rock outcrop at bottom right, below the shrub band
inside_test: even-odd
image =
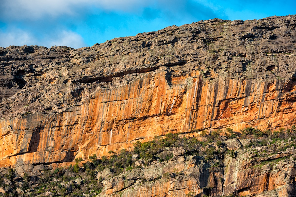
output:
[[[156,162],[113,178],[104,177],[104,187],[99,196],[201,197],[234,194],[249,197],[294,197],[296,150],[291,147],[274,154],[284,144],[243,150],[237,147],[237,156],[232,158],[226,155],[223,160],[225,166],[217,165],[218,159],[205,162],[204,156],[175,156],[168,162]],[[288,159],[283,158],[287,156]],[[283,160],[278,161],[280,158]],[[262,161],[265,163],[260,163]],[[260,165],[255,165],[256,162]]]

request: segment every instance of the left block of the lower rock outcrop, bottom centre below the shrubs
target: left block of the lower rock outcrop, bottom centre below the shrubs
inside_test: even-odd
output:
[[[221,196],[223,173],[223,168],[212,167],[204,162],[203,157],[176,156],[169,162],[152,164],[103,180],[104,188],[99,196],[164,197],[186,196],[189,192],[192,196]]]

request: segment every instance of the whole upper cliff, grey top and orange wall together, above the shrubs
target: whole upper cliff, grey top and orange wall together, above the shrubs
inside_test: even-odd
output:
[[[295,28],[295,15],[213,19],[80,49],[0,48],[0,166],[296,124]]]

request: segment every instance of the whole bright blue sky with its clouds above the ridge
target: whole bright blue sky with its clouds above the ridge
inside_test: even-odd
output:
[[[0,46],[79,48],[200,20],[288,14],[295,0],[1,0]]]

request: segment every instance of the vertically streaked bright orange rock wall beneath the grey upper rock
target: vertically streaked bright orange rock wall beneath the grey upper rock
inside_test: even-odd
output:
[[[0,165],[87,159],[168,132],[295,123],[291,92],[282,90],[288,81],[207,80],[198,72],[174,80],[168,84],[160,69],[128,85],[101,89],[67,111],[2,120]]]

